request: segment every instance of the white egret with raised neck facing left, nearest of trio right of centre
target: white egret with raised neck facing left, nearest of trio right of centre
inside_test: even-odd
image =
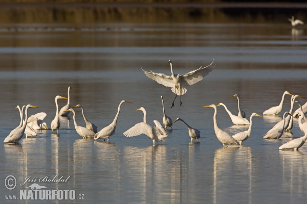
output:
[[[218,106],[218,105],[217,105]],[[225,131],[221,130],[218,126],[217,126],[217,121],[216,121],[216,114],[217,114],[217,110],[216,110],[216,106],[214,104],[209,105],[209,106],[204,106],[204,107],[211,107],[214,108],[214,115],[213,115],[213,123],[214,123],[214,132],[215,135],[217,137],[218,140],[220,140],[220,142],[223,143],[223,146],[227,147],[228,144],[236,144],[239,145],[238,141],[236,141],[233,137],[231,137],[231,135],[229,135],[228,133],[226,133]]]

